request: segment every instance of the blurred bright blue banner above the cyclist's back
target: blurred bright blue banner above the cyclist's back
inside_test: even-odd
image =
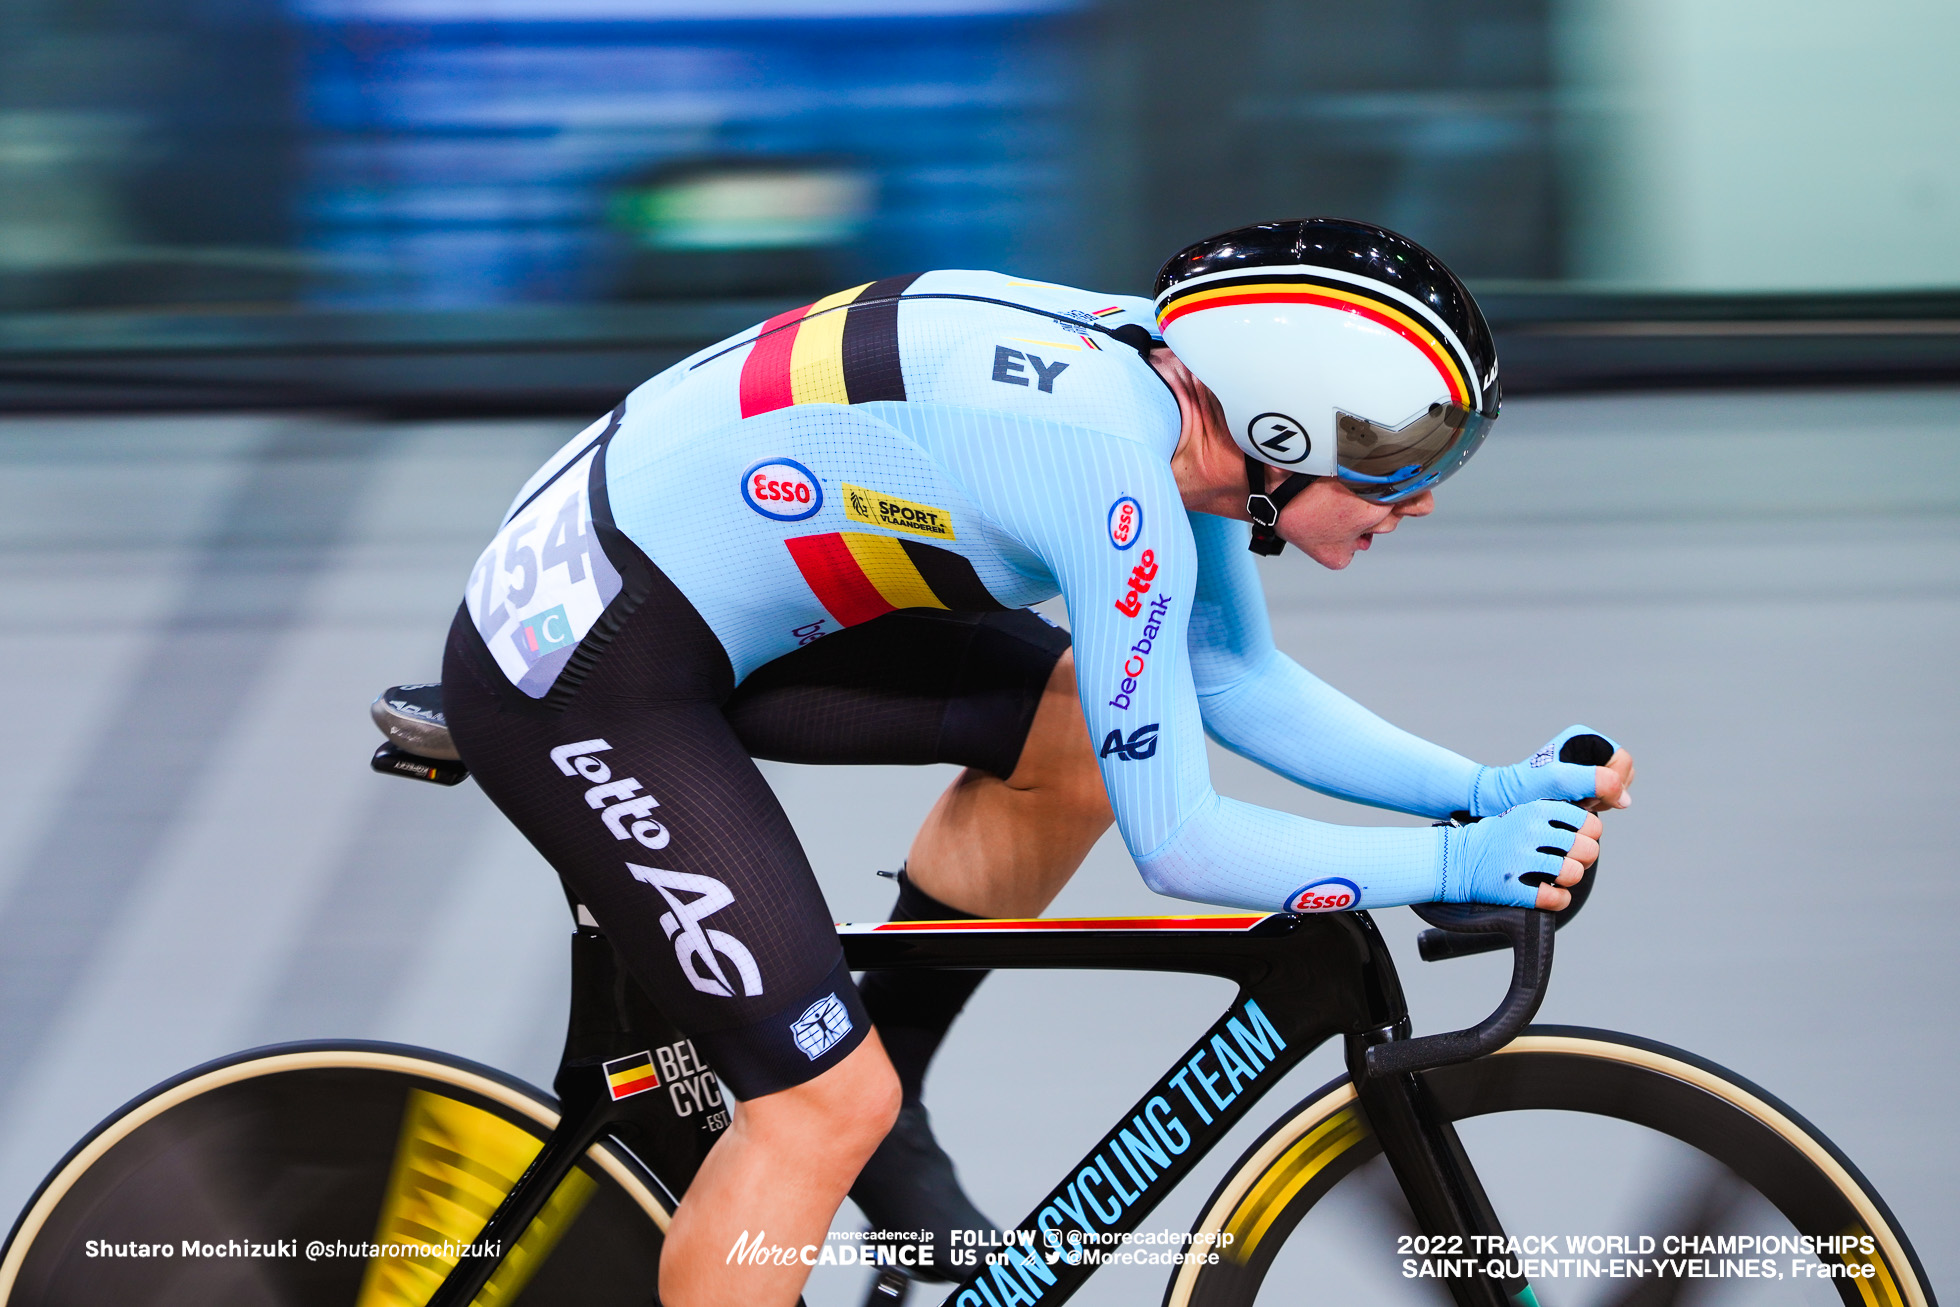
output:
[[[1068,272],[1070,4],[308,0],[300,243],[335,308]],[[727,18],[735,14],[739,18]]]

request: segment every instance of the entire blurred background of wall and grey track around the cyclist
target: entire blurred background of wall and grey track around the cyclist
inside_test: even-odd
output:
[[[1262,564],[1282,645],[1486,762],[1627,739],[1546,1019],[1766,1084],[1950,1283],[1954,67],[1936,0],[0,0],[0,1221],[255,1042],[549,1082],[549,868],[474,786],[370,774],[365,709],[435,676],[512,490],[596,411],[874,276],[1147,294],[1192,239],[1337,214],[1470,280],[1507,417],[1350,572]],[[949,774],[768,776],[835,913],[882,917]],[[1166,907],[1105,841],[1056,911]],[[1503,984],[1403,956],[1421,1029]],[[929,1101],[994,1217],[1207,984],[982,988]],[[1160,1291],[1125,1274],[1078,1301]]]

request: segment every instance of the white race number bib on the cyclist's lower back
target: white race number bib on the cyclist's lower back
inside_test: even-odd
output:
[[[566,466],[512,513],[470,572],[470,621],[510,684],[533,700],[551,692],[619,594],[619,572],[592,529],[596,457],[598,449]]]

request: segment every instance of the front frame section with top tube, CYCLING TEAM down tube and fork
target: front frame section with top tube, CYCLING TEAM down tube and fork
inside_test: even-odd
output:
[[[1362,1109],[1429,1234],[1501,1234],[1454,1129],[1413,1074],[1368,1076],[1366,1048],[1409,1035],[1401,980],[1368,913],[1092,921],[888,923],[845,929],[858,968],[1092,968],[1192,972],[1239,986],[1233,1003],[1103,1133],[945,1299],[1066,1301],[1096,1270],[1074,1246],[1133,1233],[1156,1203],[1319,1044],[1347,1041]],[[1205,1248],[1192,1252],[1203,1254]],[[998,1283],[1011,1276],[1013,1289]],[[1523,1282],[1452,1282],[1460,1307],[1507,1307]]]

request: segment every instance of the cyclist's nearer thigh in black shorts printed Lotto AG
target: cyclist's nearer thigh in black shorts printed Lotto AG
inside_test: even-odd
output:
[[[443,707],[492,801],[737,1097],[757,1097],[835,1066],[870,1021],[796,831],[708,698],[715,668],[676,664],[700,651],[674,639],[690,617],[643,605],[559,707],[517,702],[459,617]]]

